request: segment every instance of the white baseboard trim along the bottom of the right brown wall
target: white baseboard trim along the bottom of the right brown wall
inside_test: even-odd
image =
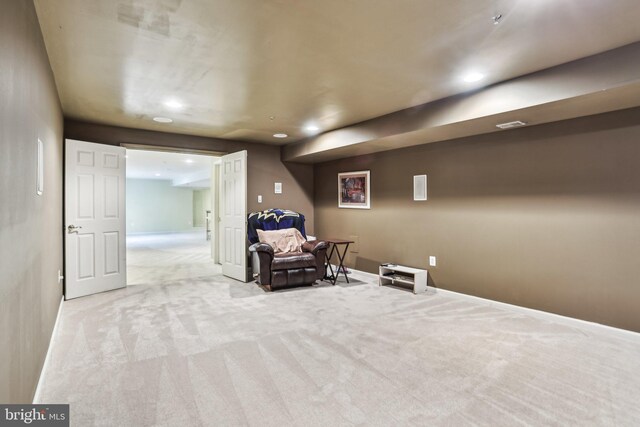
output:
[[[374,279],[376,282],[378,280],[377,274],[369,273],[366,271],[355,270],[355,269],[352,269],[352,270],[354,272],[357,272],[358,274],[362,274],[364,276],[370,277]],[[605,332],[608,334],[615,335],[622,339],[631,340],[633,342],[640,342],[640,333],[629,331],[627,329],[615,328],[613,326],[603,325],[602,323],[589,322],[587,320],[576,319],[575,317],[563,316],[561,314],[550,313],[548,311],[537,310],[535,308],[522,307],[520,305],[514,305],[506,302],[495,301],[488,298],[476,297],[473,295],[463,294],[460,292],[450,291],[447,289],[434,288],[432,286],[427,286],[427,289],[435,290],[435,293],[442,293],[442,294],[451,295],[451,296],[455,296],[462,299],[469,299],[485,305],[491,305],[491,306],[502,308],[505,310],[524,313],[541,320],[562,323],[565,326],[580,328],[584,331],[599,332],[599,333]]]

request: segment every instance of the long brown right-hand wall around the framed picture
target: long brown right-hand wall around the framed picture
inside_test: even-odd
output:
[[[318,164],[316,234],[358,236],[356,269],[640,331],[639,142],[631,109]],[[338,209],[338,172],[363,169],[371,209]]]

